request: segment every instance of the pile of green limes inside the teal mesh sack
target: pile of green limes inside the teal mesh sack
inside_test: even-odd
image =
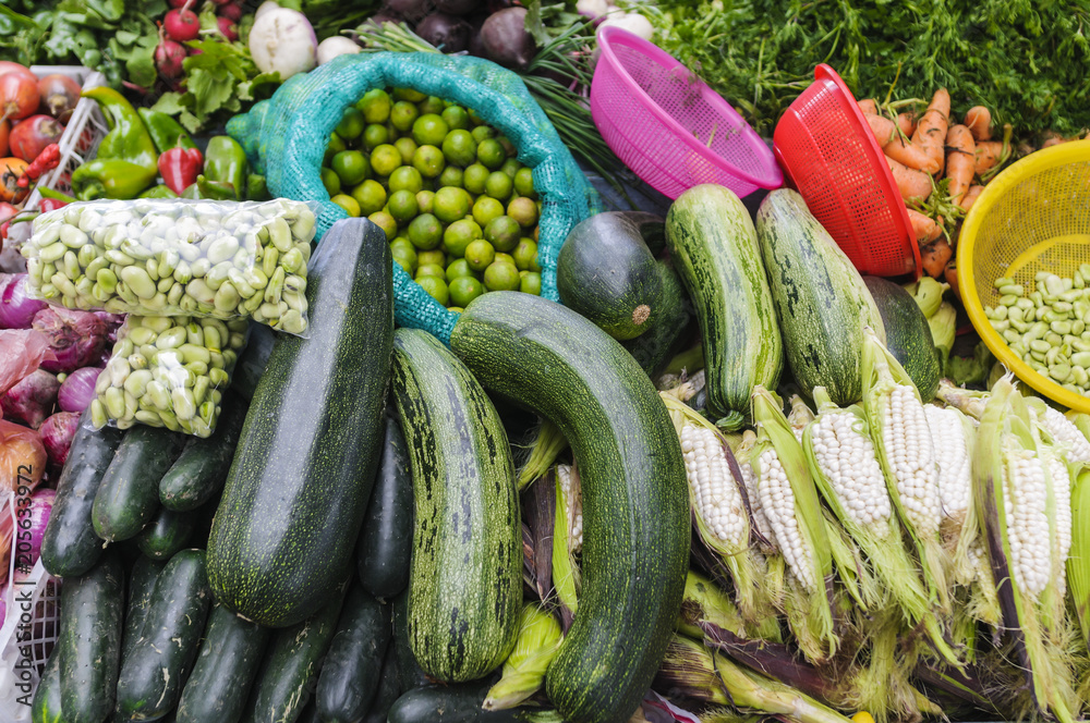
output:
[[[541,294],[541,201],[514,155],[472,110],[375,88],[344,111],[322,182],[349,216],[386,232],[416,283],[461,310],[489,291]]]

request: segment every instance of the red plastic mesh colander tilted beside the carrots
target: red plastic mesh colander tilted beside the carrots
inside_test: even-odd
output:
[[[920,275],[908,210],[855,97],[824,63],[787,109],[774,151],[810,212],[860,273]]]

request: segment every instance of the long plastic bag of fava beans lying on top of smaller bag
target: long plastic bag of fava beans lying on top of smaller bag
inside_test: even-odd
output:
[[[34,221],[28,293],[142,316],[252,318],[306,330],[311,204],[189,199],[69,204]]]

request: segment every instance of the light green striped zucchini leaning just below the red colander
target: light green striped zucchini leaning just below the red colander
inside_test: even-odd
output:
[[[798,192],[768,194],[758,210],[756,231],[796,381],[808,394],[824,387],[840,406],[858,402],[863,328],[870,326],[885,342],[862,277]]]

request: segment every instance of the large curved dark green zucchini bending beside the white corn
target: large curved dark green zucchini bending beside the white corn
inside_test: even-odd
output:
[[[666,651],[689,561],[689,490],[666,407],[619,343],[537,296],[479,296],[450,343],[486,388],[535,409],[571,443],[582,588],[546,690],[569,723],[628,721]]]

